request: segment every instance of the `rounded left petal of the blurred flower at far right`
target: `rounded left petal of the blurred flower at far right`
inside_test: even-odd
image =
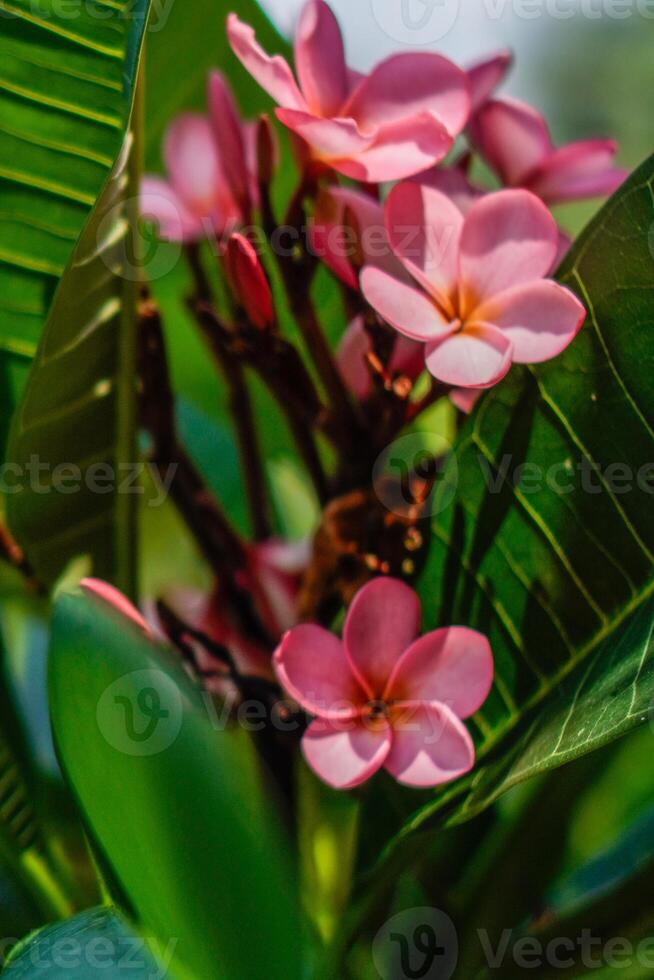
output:
[[[517,99],[493,99],[470,125],[473,145],[503,183],[518,186],[552,150],[547,123]]]

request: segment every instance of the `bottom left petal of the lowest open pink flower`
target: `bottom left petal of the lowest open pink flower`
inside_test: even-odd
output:
[[[391,748],[390,725],[313,721],[302,736],[308,765],[334,789],[352,789],[377,772]]]

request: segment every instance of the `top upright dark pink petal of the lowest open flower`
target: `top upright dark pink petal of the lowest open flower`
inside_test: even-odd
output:
[[[376,578],[357,592],[345,619],[343,644],[372,698],[381,697],[419,625],[420,600],[399,579]]]

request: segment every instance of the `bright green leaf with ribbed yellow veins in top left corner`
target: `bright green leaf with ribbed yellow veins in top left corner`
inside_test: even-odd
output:
[[[0,0],[0,447],[123,143],[148,0]]]

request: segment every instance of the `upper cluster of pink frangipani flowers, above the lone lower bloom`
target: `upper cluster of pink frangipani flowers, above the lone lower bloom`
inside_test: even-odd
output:
[[[570,343],[584,310],[549,278],[568,240],[546,206],[615,190],[625,174],[613,165],[613,142],[554,147],[535,109],[494,97],[511,62],[505,53],[467,71],[425,52],[393,55],[367,75],[353,71],[324,0],[308,0],[301,12],[297,78],[235,14],[227,32],[236,56],[277,103],[303,166],[366,185],[404,181],[384,205],[369,188],[330,184],[311,227],[317,254],[408,338],[397,345],[394,371],[415,378],[426,366],[455,393],[471,390],[461,401],[470,405],[474,392],[497,383],[512,363],[547,360]],[[164,237],[232,233],[248,223],[256,204],[255,124],[240,121],[218,73],[209,80],[208,105],[207,117],[186,114],[170,127],[169,179],[144,182],[144,210]],[[462,134],[468,151],[439,167]],[[473,152],[506,191],[485,192],[471,182]],[[362,270],[329,234],[344,227],[346,212],[358,224]],[[372,237],[376,247],[368,248]],[[254,265],[249,271],[256,285],[262,274]],[[339,362],[362,398],[370,387],[367,347],[355,320]]]

